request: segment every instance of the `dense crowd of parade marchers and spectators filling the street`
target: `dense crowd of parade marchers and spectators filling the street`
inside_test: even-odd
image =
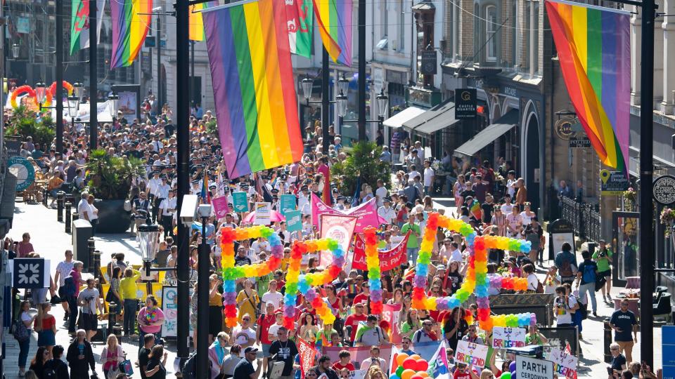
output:
[[[111,156],[143,160],[145,175],[134,177],[129,188],[129,212],[132,221],[128,232],[134,234],[138,225],[148,222],[161,225],[160,251],[165,253],[161,256],[166,258],[157,263],[160,267],[175,267],[178,254],[174,238],[177,222],[176,126],[171,119],[172,110],[166,106],[159,110],[154,109],[153,101],[148,98],[144,102],[142,119],[127,119],[120,113],[115,124],[105,124],[99,131],[99,143],[106,154]],[[305,151],[300,162],[246,177],[227,178],[226,168],[219,159],[221,150],[217,135],[210,131],[210,125],[216,121],[214,115],[210,110],[204,112],[198,107],[194,107],[193,111],[189,126],[193,194],[199,194],[203,201],[227,197],[230,209],[233,209],[233,192],[245,192],[248,194],[249,209],[255,201],[269,201],[272,209],[280,211],[281,195],[293,194],[297,209],[302,211],[300,231],[289,232],[283,220],[270,225],[284,244],[284,259],[280,269],[264,277],[237,281],[238,325],[234,327],[228,327],[224,323],[224,288],[220,259],[222,251],[219,241],[221,228],[247,227],[250,222],[244,221],[246,213],[231,211],[224,218],[209,218],[205,225],[205,235],[201,235],[201,227],[191,230],[188,251],[189,265],[194,269],[192,281],[197,279],[198,244],[205,239],[211,248],[209,309],[198,309],[195,283],[189,312],[194,331],[193,347],[198,343],[197,329],[209,329],[212,378],[255,379],[261,374],[269,376],[274,362],[283,362],[282,378],[298,378],[300,371],[296,343],[302,338],[316,346],[317,350],[316,366],[305,373],[309,379],[322,375],[329,379],[349,378],[349,371],[357,368],[366,370],[366,378],[386,379],[390,375],[387,367],[384,367],[384,359],[380,357],[380,346],[390,344],[392,330],[400,331],[403,352],[413,351],[411,346],[414,348],[415,343],[446,340],[446,353],[454,378],[494,378],[508,372],[515,357],[499,350],[489,350],[487,365],[482,372],[454,361],[454,352],[460,340],[491,346],[491,332],[481,331],[471,321],[477,319],[477,305],[463,305],[444,312],[416,310],[411,307],[414,264],[420,251],[426,220],[431,212],[446,213],[459,218],[470,224],[479,235],[514,237],[529,241],[532,250],[527,255],[491,249],[487,265],[488,276],[527,278],[526,292],[555,293],[554,310],[558,326],[577,326],[581,333],[583,318],[579,310],[586,312],[588,297],[591,297],[592,311],[596,314],[595,291],[594,288],[591,289],[591,281],[594,285],[596,277],[608,277],[611,250],[601,243],[592,256],[584,252],[584,262],[577,265],[570,244],[565,244],[563,251],[556,255],[555,264],[548,267],[548,260],[544,259],[543,253],[546,244],[543,229],[529,202],[525,182],[509,161],[499,159],[494,170],[489,160],[472,164],[471,160],[462,161],[450,157],[449,154],[438,159],[425,157],[428,152],[425,153],[420,141],[414,140],[405,132],[397,131],[390,145],[383,147],[380,157],[373,157],[392,165],[391,180],[362,183],[356,194],[343,194],[340,192],[341,178],[333,178],[327,182],[326,173],[330,172],[330,167],[335,163],[345,161],[349,157],[349,151],[343,147],[341,136],[335,133],[334,128],[330,128],[328,152],[323,152],[321,126],[310,124],[304,133]],[[86,142],[86,130],[83,126],[67,125],[63,154],[56,152],[53,146],[41,147],[30,139],[23,143],[22,154],[32,159],[36,168],[49,178],[52,197],[64,186],[68,186],[71,191],[77,191],[81,199],[77,206],[79,214],[95,227],[98,211],[94,206],[94,196],[86,191],[88,174],[83,169],[89,154]],[[378,142],[383,140],[378,139]],[[447,173],[447,180],[437,180],[439,171]],[[208,188],[208,193],[204,187]],[[361,270],[342,270],[332,283],[317,288],[335,316],[333,324],[324,323],[311,302],[298,296],[294,327],[283,326],[283,295],[285,274],[290,262],[290,247],[294,241],[319,237],[311,220],[310,195],[323,197],[324,192],[329,192],[331,205],[342,211],[375,199],[378,214],[386,221],[383,225],[377,225],[378,233],[384,241],[382,248],[392,248],[392,238],[402,237],[410,232],[405,249],[406,263],[382,273],[385,302],[401,307],[395,317],[395,327],[381,315],[372,314],[367,272]],[[447,211],[438,208],[433,197],[440,194],[454,197],[456,208]],[[461,234],[444,230],[437,232],[425,288],[428,295],[449,296],[458,291],[469,267],[467,245]],[[18,257],[35,253],[30,245],[30,236],[16,244],[8,240],[6,247]],[[250,265],[268,260],[269,257],[271,246],[264,237],[243,240],[236,246],[235,265]],[[544,281],[537,277],[537,267],[548,270]],[[316,255],[303,258],[303,273],[320,272],[324,268]],[[158,307],[153,295],[146,299],[137,298],[136,284],[141,281],[140,273],[124,262],[124,253],[113,253],[106,272],[106,277],[96,273],[95,278],[83,279],[82,262],[73,260],[72,252],[66,251],[65,259],[56,267],[56,275],[50,288],[33,291],[30,300],[21,302],[17,319],[29,331],[32,328],[39,335],[38,356],[31,361],[29,367],[38,378],[52,378],[46,375],[46,372],[51,371],[57,373],[57,378],[68,378],[68,368],[73,378],[85,378],[96,372],[91,340],[98,330],[98,319],[104,313],[104,302],[115,303],[115,307],[110,307],[109,312],[115,315],[115,321],[123,323],[122,336],[118,338],[110,334],[100,356],[105,377],[109,378],[111,372],[120,371],[120,364],[127,361],[126,352],[120,345],[121,340],[127,339],[134,343],[137,341],[139,345],[137,356],[135,359],[131,358],[131,361],[136,361],[141,377],[165,378],[166,352],[163,350],[160,333],[165,317],[161,307]],[[167,279],[175,279],[175,274],[167,272]],[[101,290],[104,282],[110,284],[110,290],[105,294]],[[578,297],[574,295],[572,287],[575,282],[579,287]],[[606,291],[607,299],[610,300],[611,284],[609,280],[606,283],[602,287],[603,299]],[[80,289],[81,286],[84,288]],[[47,290],[51,293],[51,302],[46,302]],[[514,291],[490,288],[491,295],[499,293]],[[143,304],[139,304],[141,300]],[[51,307],[58,304],[65,310],[64,321],[67,321],[68,332],[73,338],[72,343],[65,348],[56,345],[57,323],[49,313]],[[32,308],[37,308],[38,313],[32,314]],[[197,324],[198,312],[208,312],[208,326]],[[624,308],[617,312],[624,312]],[[626,362],[631,362],[634,339],[630,338],[630,331],[635,331],[635,323],[627,324],[626,317],[630,319],[630,314],[632,312],[626,310],[616,317],[612,316],[611,321],[617,333],[619,356],[621,351],[626,354],[623,364],[620,359],[616,360],[617,364],[612,361],[613,369],[619,372],[626,368]],[[634,314],[632,319],[634,320]],[[25,375],[29,343],[30,338],[20,341],[19,366],[22,376]],[[546,343],[546,337],[539,333],[537,326],[531,326],[527,332],[527,344]],[[354,365],[349,351],[344,350],[339,354],[340,359],[333,361],[327,355],[321,354],[321,347],[329,346],[370,347],[370,357]],[[612,354],[613,352],[614,350]],[[257,361],[257,357],[262,357],[262,360]],[[498,364],[498,361],[501,363]],[[120,375],[124,375],[124,372]]]

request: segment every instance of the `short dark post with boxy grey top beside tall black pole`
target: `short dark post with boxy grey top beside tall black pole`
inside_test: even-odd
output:
[[[202,218],[202,243],[197,262],[197,301],[200,310],[209,308],[209,255],[211,249],[206,241],[206,223],[211,217],[211,204],[200,204],[198,212]],[[197,312],[197,378],[208,378],[209,361],[209,315]]]

